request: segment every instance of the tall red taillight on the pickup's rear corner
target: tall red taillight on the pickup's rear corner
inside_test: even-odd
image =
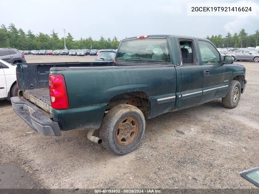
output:
[[[64,76],[62,74],[49,74],[48,83],[51,107],[68,109],[67,86]]]

